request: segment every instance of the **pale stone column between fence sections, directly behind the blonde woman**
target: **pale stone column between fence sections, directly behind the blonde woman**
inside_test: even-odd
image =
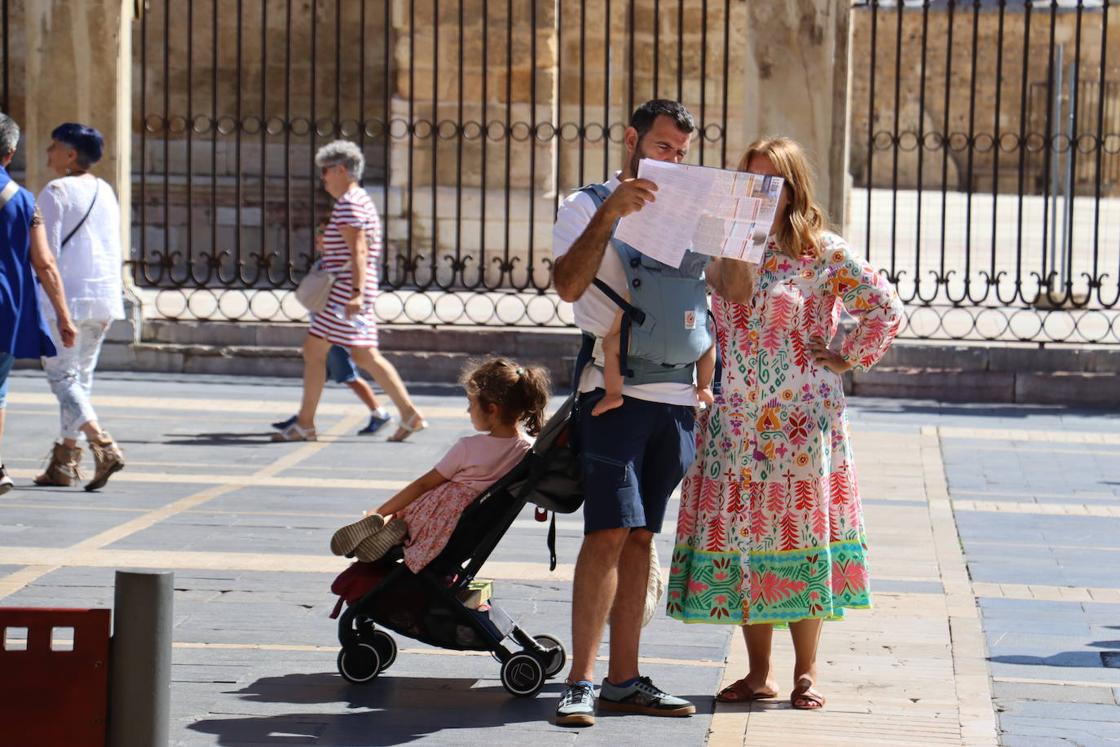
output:
[[[847,223],[848,185],[848,2],[796,0],[745,3],[749,15],[741,39],[743,131],[746,147],[764,136],[800,142],[816,171],[816,193],[829,217]],[[729,166],[734,167],[731,162]]]

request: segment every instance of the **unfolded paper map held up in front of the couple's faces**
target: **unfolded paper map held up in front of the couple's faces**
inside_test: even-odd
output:
[[[657,198],[618,222],[615,237],[680,267],[684,251],[757,263],[774,223],[782,178],[643,158],[637,175]]]

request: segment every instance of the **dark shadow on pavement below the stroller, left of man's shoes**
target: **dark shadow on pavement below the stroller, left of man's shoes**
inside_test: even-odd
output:
[[[215,735],[218,745],[399,745],[445,730],[545,723],[561,687],[550,682],[538,698],[525,699],[477,683],[473,678],[385,674],[358,685],[333,672],[261,678],[235,694],[258,703],[329,704],[332,710],[342,704],[349,712],[231,715],[195,721],[188,728]],[[246,704],[246,710],[255,709]]]

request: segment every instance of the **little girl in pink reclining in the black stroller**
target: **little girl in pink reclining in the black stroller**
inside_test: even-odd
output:
[[[447,544],[459,515],[529,451],[544,423],[551,386],[543,368],[488,358],[464,371],[476,436],[451,446],[435,468],[374,513],[335,532],[330,551],[372,562],[404,542],[404,563],[419,572]],[[522,428],[524,430],[522,430]]]

